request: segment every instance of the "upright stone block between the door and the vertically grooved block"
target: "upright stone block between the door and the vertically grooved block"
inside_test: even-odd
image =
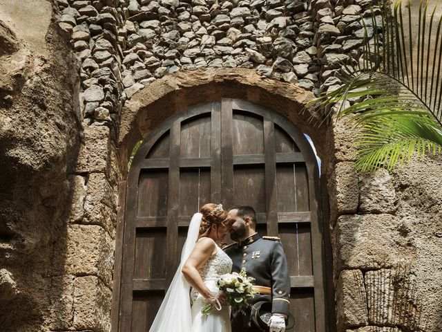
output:
[[[367,297],[361,270],[343,270],[336,288],[338,330],[368,323]]]

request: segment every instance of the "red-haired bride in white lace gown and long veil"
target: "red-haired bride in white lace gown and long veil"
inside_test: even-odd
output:
[[[200,213],[193,214],[180,266],[150,332],[231,332],[229,307],[220,305],[216,286],[220,275],[231,273],[232,261],[216,243],[229,228],[227,211],[221,204],[207,203]],[[206,304],[213,308],[204,315],[201,309]]]

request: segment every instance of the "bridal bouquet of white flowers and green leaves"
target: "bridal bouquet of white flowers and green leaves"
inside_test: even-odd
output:
[[[224,293],[232,311],[240,311],[242,314],[246,314],[244,309],[249,306],[249,300],[255,297],[252,287],[253,280],[255,279],[247,277],[245,268],[242,268],[240,273],[227,273],[218,279],[216,285]],[[212,305],[207,304],[202,308],[201,313],[209,313],[211,308]]]

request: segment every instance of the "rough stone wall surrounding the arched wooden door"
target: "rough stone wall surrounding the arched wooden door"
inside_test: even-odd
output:
[[[354,131],[300,111],[340,84],[374,1],[20,2],[0,4],[5,331],[109,331],[128,155],[167,116],[222,97],[285,114],[314,140],[338,331],[441,330],[440,158],[357,174]]]

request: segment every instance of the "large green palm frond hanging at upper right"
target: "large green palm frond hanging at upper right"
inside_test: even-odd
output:
[[[362,171],[393,169],[441,151],[442,17],[436,19],[436,8],[428,15],[428,2],[419,6],[417,31],[412,30],[411,1],[407,15],[402,1],[384,7],[382,26],[376,26],[372,12],[374,31],[382,28],[383,37],[374,33],[369,39],[365,33],[360,61],[343,64],[336,75],[340,88],[311,102],[325,110],[325,120],[347,117],[361,129],[355,145],[356,167]],[[332,108],[336,103],[340,106]]]

